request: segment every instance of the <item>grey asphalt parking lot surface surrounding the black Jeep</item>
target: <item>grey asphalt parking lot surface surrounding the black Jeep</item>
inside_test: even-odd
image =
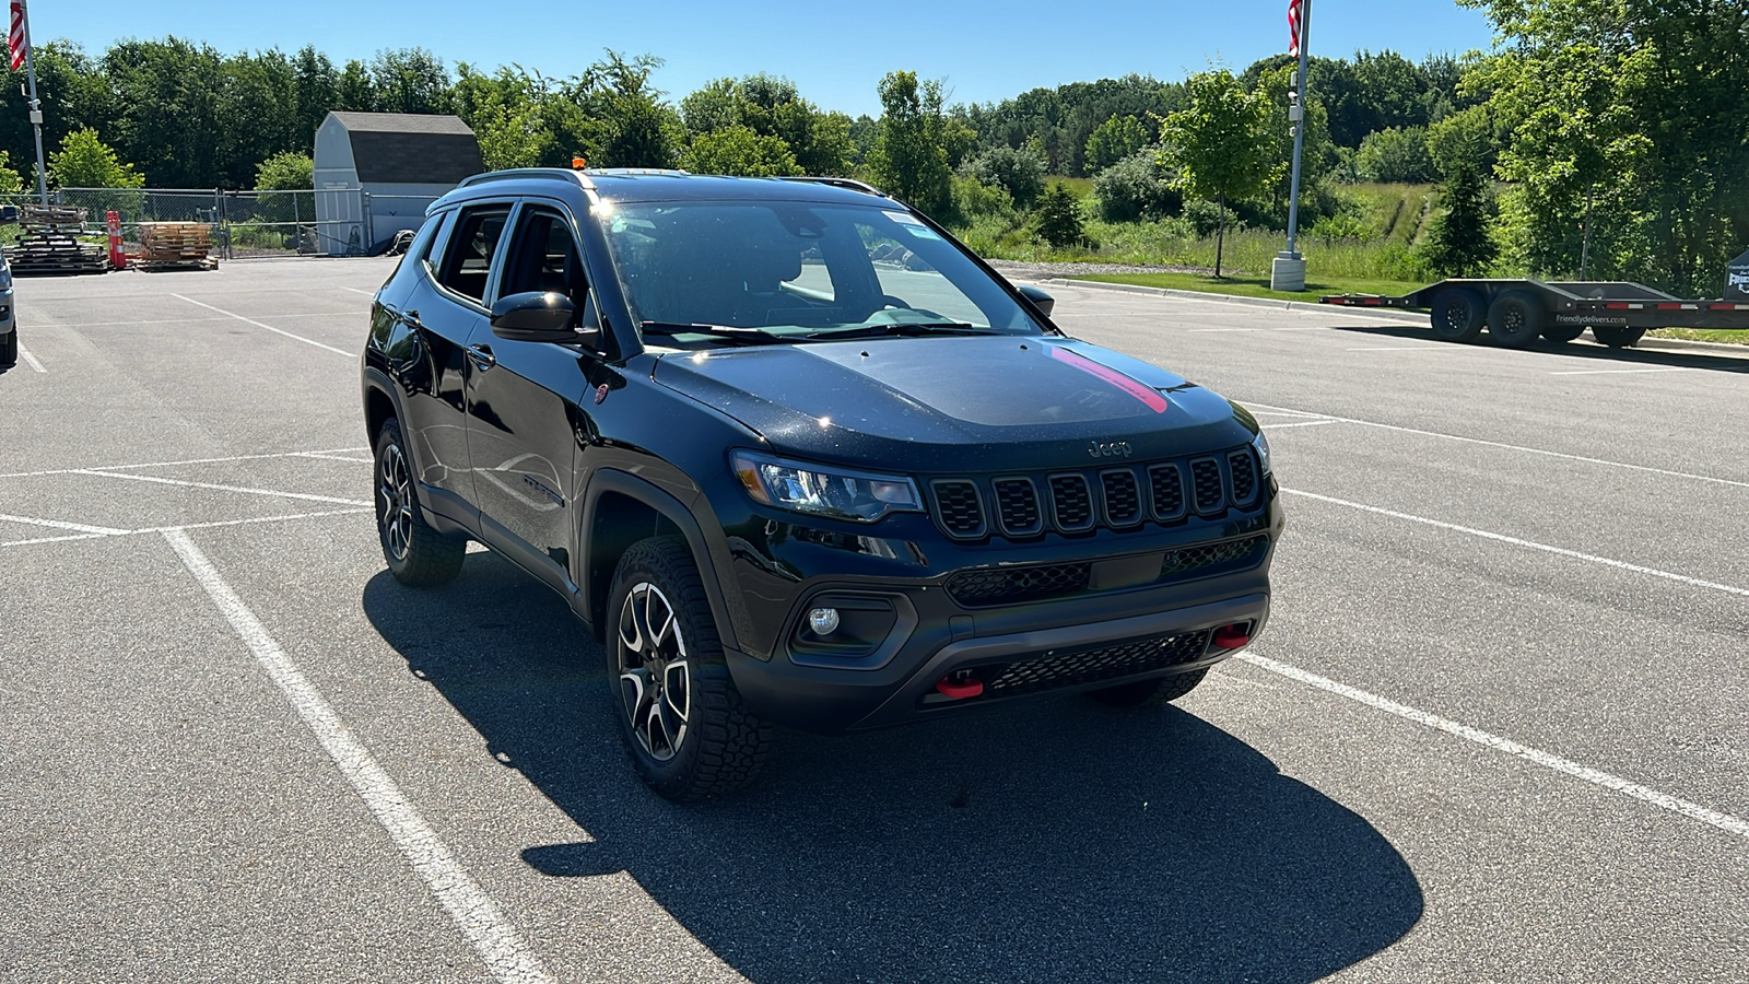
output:
[[[385,573],[392,263],[19,280],[0,979],[1749,980],[1749,359],[1051,287],[1259,413],[1270,630],[675,807],[558,597]]]

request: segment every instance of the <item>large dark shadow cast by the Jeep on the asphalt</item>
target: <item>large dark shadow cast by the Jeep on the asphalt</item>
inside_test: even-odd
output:
[[[628,872],[756,982],[1315,980],[1422,916],[1373,825],[1177,707],[778,732],[752,790],[680,807],[631,772],[600,646],[507,562],[436,592],[383,573],[364,609],[588,833],[528,865]]]

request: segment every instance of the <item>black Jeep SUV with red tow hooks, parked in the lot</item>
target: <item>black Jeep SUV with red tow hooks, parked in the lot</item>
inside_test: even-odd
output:
[[[857,182],[469,179],[364,352],[388,569],[476,539],[560,592],[670,798],[773,721],[1172,700],[1268,618],[1268,445],[1049,312]]]

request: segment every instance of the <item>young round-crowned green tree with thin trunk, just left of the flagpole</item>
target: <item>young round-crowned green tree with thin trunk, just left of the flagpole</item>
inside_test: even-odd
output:
[[[1226,203],[1258,194],[1284,163],[1266,130],[1268,107],[1226,68],[1186,81],[1189,105],[1167,116],[1161,126],[1163,163],[1179,168],[1184,189],[1221,208],[1214,275],[1221,277],[1226,247]]]

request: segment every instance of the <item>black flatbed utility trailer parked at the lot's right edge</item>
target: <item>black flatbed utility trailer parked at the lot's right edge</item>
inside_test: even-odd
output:
[[[1749,301],[1684,301],[1644,284],[1450,278],[1401,298],[1336,294],[1319,303],[1425,308],[1432,312],[1432,333],[1446,341],[1474,341],[1487,327],[1509,348],[1539,336],[1572,341],[1586,327],[1611,348],[1627,348],[1655,327],[1749,329]]]

